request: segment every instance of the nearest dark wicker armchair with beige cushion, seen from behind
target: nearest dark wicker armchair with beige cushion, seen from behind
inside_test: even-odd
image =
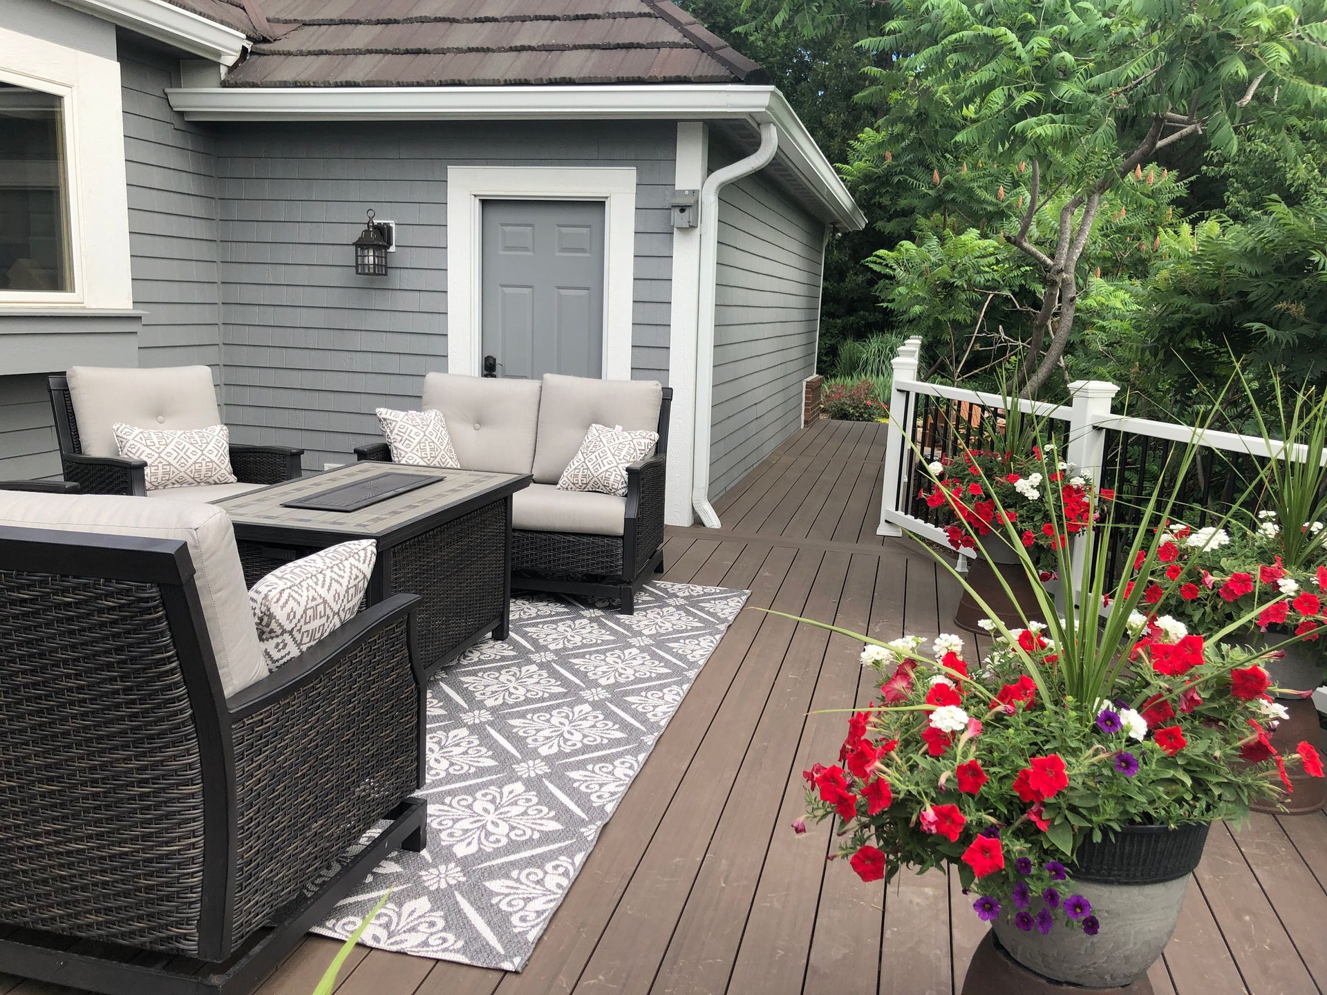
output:
[[[268,674],[222,509],[0,492],[0,972],[236,995],[422,849],[415,601]]]

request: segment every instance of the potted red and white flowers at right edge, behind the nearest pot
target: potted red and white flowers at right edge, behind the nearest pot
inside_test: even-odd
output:
[[[1177,620],[1202,631],[1235,626],[1229,641],[1265,653],[1271,693],[1279,699],[1270,716],[1271,743],[1290,755],[1286,796],[1278,801],[1290,812],[1316,812],[1327,789],[1307,775],[1292,750],[1299,740],[1318,738],[1311,695],[1323,678],[1319,646],[1327,628],[1327,551],[1318,541],[1316,564],[1286,565],[1277,512],[1259,511],[1255,521],[1229,520],[1200,529],[1173,523],[1162,529],[1158,569],[1144,589],[1143,604],[1149,618]],[[1316,536],[1323,527],[1312,521],[1302,529]],[[1303,564],[1306,557],[1294,559]]]

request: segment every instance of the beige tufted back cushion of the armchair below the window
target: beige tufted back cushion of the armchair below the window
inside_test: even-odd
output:
[[[135,429],[208,429],[222,423],[212,371],[206,366],[138,370],[70,366],[69,399],[78,442],[89,456],[118,456],[115,422]]]

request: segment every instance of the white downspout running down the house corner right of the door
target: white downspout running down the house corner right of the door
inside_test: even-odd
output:
[[[779,149],[779,131],[760,125],[760,147],[731,166],[715,170],[701,187],[701,287],[695,322],[695,444],[691,448],[691,507],[706,528],[719,528],[710,504],[710,429],[714,419],[714,298],[719,256],[719,191],[735,179],[759,172]]]

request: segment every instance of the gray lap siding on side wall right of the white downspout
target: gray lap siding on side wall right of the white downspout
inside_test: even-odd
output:
[[[824,224],[759,174],[719,195],[711,500],[802,427],[823,244]]]

